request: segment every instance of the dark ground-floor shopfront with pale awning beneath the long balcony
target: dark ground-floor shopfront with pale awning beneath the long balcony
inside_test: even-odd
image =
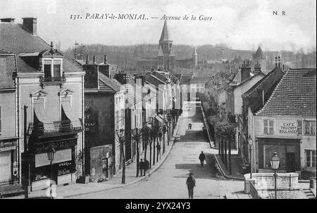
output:
[[[32,191],[47,188],[52,179],[56,185],[76,181],[75,146],[77,137],[35,143],[30,162]],[[56,150],[52,166],[47,157],[47,150],[53,146]],[[52,174],[52,176],[51,176]]]

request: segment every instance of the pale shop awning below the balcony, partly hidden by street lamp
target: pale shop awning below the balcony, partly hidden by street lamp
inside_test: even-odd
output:
[[[54,154],[53,164],[58,162],[66,162],[72,160],[72,149],[68,148],[66,150],[58,150]],[[45,165],[49,165],[49,158],[47,157],[47,153],[41,153],[35,155],[35,167],[43,167]]]

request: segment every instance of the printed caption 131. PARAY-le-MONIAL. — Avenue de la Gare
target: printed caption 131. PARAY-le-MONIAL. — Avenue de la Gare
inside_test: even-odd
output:
[[[209,15],[163,15],[161,17],[156,17],[155,15],[146,15],[144,13],[85,13],[85,15],[80,14],[70,14],[71,20],[203,20],[209,21],[213,18]]]

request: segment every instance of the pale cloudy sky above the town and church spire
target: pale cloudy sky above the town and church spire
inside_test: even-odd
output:
[[[278,11],[279,15],[273,15]],[[286,15],[282,15],[285,11]],[[145,14],[147,20],[86,19],[87,13]],[[82,19],[71,20],[71,14]],[[68,49],[82,44],[158,44],[163,15],[173,44],[226,44],[232,49],[316,49],[316,0],[0,0],[0,18],[37,18],[37,34]],[[196,20],[182,20],[194,15]],[[212,17],[198,20],[199,16]],[[1,33],[1,32],[0,32]]]

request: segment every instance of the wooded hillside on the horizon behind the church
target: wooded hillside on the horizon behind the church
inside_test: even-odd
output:
[[[173,45],[176,58],[191,58],[194,46],[189,45]],[[89,56],[96,56],[97,63],[104,61],[104,55],[108,58],[108,63],[117,65],[120,69],[135,71],[137,59],[142,57],[156,57],[158,53],[158,44],[139,44],[131,46],[107,46],[102,44],[92,44],[84,46],[82,54],[84,60]],[[77,58],[80,58],[81,47],[77,46]],[[67,49],[64,54],[70,60],[74,58],[74,49]],[[197,55],[199,62],[214,63],[221,58],[233,60],[236,56],[240,56],[242,60],[251,59],[254,51],[229,49],[227,46],[219,44],[197,46]],[[273,61],[278,54],[277,51],[266,51],[264,56],[268,60]],[[311,53],[301,53],[292,51],[281,51],[282,60],[285,63],[296,62],[297,67],[316,67],[316,51]]]

